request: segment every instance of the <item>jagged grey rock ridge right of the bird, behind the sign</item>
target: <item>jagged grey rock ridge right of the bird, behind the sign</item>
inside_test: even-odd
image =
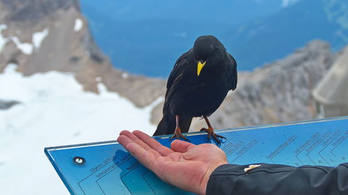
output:
[[[237,90],[212,115],[212,124],[232,128],[315,119],[311,90],[334,59],[329,44],[315,40],[283,60],[239,74]]]

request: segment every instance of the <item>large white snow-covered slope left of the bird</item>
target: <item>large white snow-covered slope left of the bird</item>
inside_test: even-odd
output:
[[[84,92],[72,74],[25,77],[15,68],[0,74],[0,99],[21,102],[0,110],[0,194],[68,194],[45,146],[116,139],[123,129],[155,131],[150,111],[161,99],[139,109],[102,84],[100,94]]]

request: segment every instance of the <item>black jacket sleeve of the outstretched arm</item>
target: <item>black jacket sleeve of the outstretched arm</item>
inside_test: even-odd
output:
[[[209,178],[206,194],[348,195],[348,163],[338,167],[223,164]]]

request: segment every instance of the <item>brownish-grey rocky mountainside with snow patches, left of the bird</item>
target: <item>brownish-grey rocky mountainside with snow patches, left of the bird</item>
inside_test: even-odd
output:
[[[76,19],[84,24],[79,31],[74,31]],[[52,70],[72,72],[84,90],[97,93],[97,83],[103,83],[139,107],[164,94],[165,80],[112,67],[93,41],[77,0],[0,0],[0,24],[7,26],[1,31],[7,42],[0,51],[0,73],[10,62],[16,63],[24,76]],[[45,29],[47,37],[31,54],[19,49],[13,38],[33,46],[33,34]]]

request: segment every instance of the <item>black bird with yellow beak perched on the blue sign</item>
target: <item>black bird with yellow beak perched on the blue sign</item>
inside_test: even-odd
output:
[[[220,143],[207,117],[223,102],[229,90],[237,87],[237,62],[221,42],[212,35],[198,37],[193,48],[175,62],[168,77],[163,118],[154,135],[173,134],[188,141],[193,117],[203,117],[208,128],[202,128]]]

